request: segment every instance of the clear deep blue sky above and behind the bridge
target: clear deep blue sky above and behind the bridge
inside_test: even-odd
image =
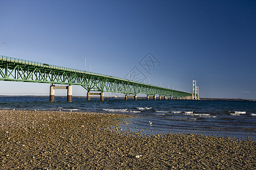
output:
[[[96,73],[140,73],[188,92],[196,79],[200,97],[256,99],[256,1],[0,0],[0,11],[0,55],[83,70],[82,56]],[[148,52],[158,61],[150,71]],[[49,94],[49,84],[0,87],[0,95]]]

